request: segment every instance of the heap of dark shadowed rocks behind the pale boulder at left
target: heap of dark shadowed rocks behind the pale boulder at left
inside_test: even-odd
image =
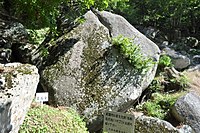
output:
[[[41,49],[29,41],[26,28],[0,9],[0,63],[21,62],[40,66]],[[3,15],[4,14],[4,15]]]

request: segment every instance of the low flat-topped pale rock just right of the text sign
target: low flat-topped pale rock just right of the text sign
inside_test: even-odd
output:
[[[193,130],[188,125],[177,129],[167,121],[154,117],[138,116],[135,121],[135,133],[193,133]]]

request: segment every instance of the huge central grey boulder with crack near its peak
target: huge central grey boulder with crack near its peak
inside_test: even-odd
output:
[[[90,124],[91,131],[101,126],[102,117],[98,116],[104,110],[126,110],[153,80],[157,68],[154,64],[146,74],[138,73],[112,46],[111,37],[134,37],[142,53],[155,62],[160,53],[152,41],[123,17],[109,12],[97,16],[87,12],[83,24],[53,42],[46,67],[41,71],[49,103],[76,108]]]

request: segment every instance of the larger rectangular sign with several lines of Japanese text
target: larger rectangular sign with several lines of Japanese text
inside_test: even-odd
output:
[[[134,133],[135,118],[131,114],[106,111],[103,131],[107,133]]]

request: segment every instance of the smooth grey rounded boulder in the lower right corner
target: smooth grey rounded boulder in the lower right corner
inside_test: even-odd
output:
[[[196,133],[200,132],[200,97],[196,94],[190,92],[179,98],[172,114],[180,122],[190,125]]]

